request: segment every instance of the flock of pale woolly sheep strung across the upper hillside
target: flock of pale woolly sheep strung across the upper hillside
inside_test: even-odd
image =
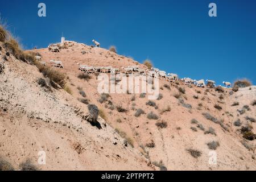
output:
[[[96,47],[100,47],[100,43],[98,43],[96,40],[92,40],[92,42],[95,44]],[[49,51],[53,51],[53,52],[59,52],[59,47],[52,45],[52,46],[48,46]],[[36,56],[36,59],[38,59],[40,61],[41,57],[40,56]],[[64,68],[63,63],[61,61],[57,61],[57,60],[50,60],[49,61],[53,67],[59,67],[59,68]],[[45,62],[40,61],[41,64],[46,65]],[[88,65],[81,65],[79,64],[79,69],[82,72],[85,73],[125,73],[125,74],[131,74],[131,73],[137,73],[138,75],[148,75],[151,77],[156,77],[159,76],[159,78],[162,80],[162,78],[166,81],[170,81],[170,82],[174,82],[176,80],[178,80],[178,76],[174,73],[168,73],[166,74],[165,71],[160,71],[158,68],[151,68],[151,69],[142,69],[139,68],[138,65],[133,65],[133,66],[129,66],[129,67],[122,67],[122,72],[120,71],[119,68],[112,68],[111,66],[108,67],[92,67],[92,66],[88,66]],[[189,84],[189,85],[195,85],[197,87],[201,87],[201,88],[205,88],[206,84],[205,81],[202,80],[192,80],[191,78],[182,78],[181,81],[184,81],[185,85]],[[213,80],[206,80],[207,84],[211,84],[213,86],[216,86],[216,82]],[[226,82],[223,81],[222,82],[226,88],[231,87],[231,83],[230,82]]]

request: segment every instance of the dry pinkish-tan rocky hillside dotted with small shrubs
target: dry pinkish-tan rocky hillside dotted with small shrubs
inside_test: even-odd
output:
[[[27,159],[42,170],[256,169],[255,86],[233,92],[160,80],[160,97],[150,102],[141,94],[100,94],[95,74],[78,77],[79,63],[146,66],[73,43],[60,52],[32,50],[47,65],[63,62],[53,69],[67,84],[55,89],[39,85],[49,78],[0,46],[0,155],[15,169]],[[88,104],[100,109],[101,129],[85,121]],[[37,164],[39,151],[46,151],[46,165]],[[209,164],[210,151],[217,164]]]

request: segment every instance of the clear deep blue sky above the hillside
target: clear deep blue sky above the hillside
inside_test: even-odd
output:
[[[47,17],[39,18],[44,2]],[[210,2],[217,17],[208,16]],[[180,77],[256,82],[256,1],[3,1],[1,17],[24,48],[68,40],[101,47]]]

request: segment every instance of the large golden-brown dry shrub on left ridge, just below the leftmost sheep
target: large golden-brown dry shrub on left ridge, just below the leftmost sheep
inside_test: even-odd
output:
[[[64,73],[61,73],[60,71],[57,71],[55,68],[51,68],[49,66],[44,66],[37,61],[35,62],[36,67],[38,67],[39,71],[43,73],[45,77],[48,77],[50,80],[56,82],[61,86],[61,88],[64,88],[66,84],[66,76]]]

